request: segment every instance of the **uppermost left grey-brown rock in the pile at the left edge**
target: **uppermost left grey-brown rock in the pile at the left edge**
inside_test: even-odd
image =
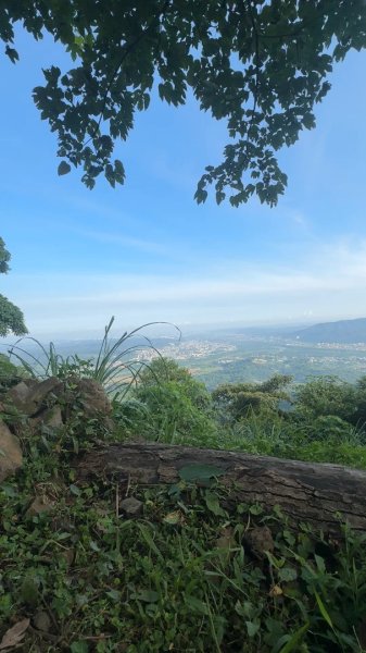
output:
[[[60,379],[50,377],[46,381],[33,383],[21,381],[12,387],[3,397],[4,404],[12,404],[21,412],[28,417],[33,417],[39,412],[42,406],[46,405],[47,397],[53,393],[59,394],[63,389],[63,383]]]

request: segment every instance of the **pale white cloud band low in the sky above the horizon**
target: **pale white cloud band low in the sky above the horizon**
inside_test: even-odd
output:
[[[110,274],[5,279],[3,293],[38,334],[102,330],[152,320],[286,321],[366,313],[366,242],[338,242],[310,251],[296,267],[218,261],[185,276]],[[23,287],[23,289],[21,289]],[[365,307],[365,308],[364,308]]]

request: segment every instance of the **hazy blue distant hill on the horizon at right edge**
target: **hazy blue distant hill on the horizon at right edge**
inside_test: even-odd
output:
[[[314,324],[292,336],[304,343],[366,343],[366,318]]]

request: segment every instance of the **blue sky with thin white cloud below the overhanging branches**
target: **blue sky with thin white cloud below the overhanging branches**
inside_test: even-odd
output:
[[[50,38],[18,32],[21,61],[0,59],[0,236],[12,254],[0,293],[39,338],[88,338],[111,316],[124,331],[151,321],[299,324],[366,316],[366,52],[351,52],[316,108],[317,127],[279,155],[289,183],[276,208],[193,200],[220,161],[225,124],[193,98],[153,98],[127,143],[127,178],[93,190],[59,177],[56,139],[31,89],[68,60]]]

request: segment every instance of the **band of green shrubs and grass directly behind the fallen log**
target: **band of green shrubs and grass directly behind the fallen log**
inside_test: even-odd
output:
[[[291,386],[276,374],[207,393],[174,360],[155,359],[115,403],[121,438],[239,451],[366,469],[365,381],[308,379]]]

